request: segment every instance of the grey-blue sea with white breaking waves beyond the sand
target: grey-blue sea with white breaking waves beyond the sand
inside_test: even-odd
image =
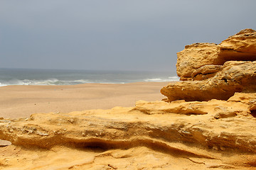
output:
[[[0,69],[0,86],[74,85],[86,83],[126,84],[164,81],[178,81],[176,72]]]

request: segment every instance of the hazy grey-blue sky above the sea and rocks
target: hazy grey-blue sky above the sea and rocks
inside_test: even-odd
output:
[[[176,52],[256,29],[255,0],[1,0],[0,68],[175,69]]]

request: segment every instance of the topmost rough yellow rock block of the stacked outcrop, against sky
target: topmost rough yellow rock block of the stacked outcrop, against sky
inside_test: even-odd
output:
[[[256,60],[256,31],[241,30],[239,33],[223,40],[219,45],[213,43],[195,43],[186,45],[185,49],[177,53],[177,74],[181,80],[192,80],[194,72],[206,65],[223,65],[227,61],[255,61]],[[206,68],[201,68],[206,69]],[[201,79],[212,76],[206,75]]]

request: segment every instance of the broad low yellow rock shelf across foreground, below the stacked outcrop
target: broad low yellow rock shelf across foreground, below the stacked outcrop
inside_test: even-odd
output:
[[[247,104],[252,101],[249,97],[244,102],[139,101],[135,108],[3,119],[1,139],[20,146],[19,151],[46,148],[41,154],[53,160],[25,162],[33,155],[25,149],[18,154],[11,151],[19,161],[9,156],[0,164],[6,169],[17,164],[23,166],[20,169],[173,169],[178,166],[172,162],[179,162],[183,165],[179,168],[186,169],[247,169],[255,164],[256,152],[255,118]],[[70,157],[64,154],[67,150],[73,150]],[[60,159],[65,159],[61,166]]]

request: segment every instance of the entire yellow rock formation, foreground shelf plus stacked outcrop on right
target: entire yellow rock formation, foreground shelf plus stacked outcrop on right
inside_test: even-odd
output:
[[[0,169],[255,169],[255,35],[186,46],[164,101],[1,118]]]

